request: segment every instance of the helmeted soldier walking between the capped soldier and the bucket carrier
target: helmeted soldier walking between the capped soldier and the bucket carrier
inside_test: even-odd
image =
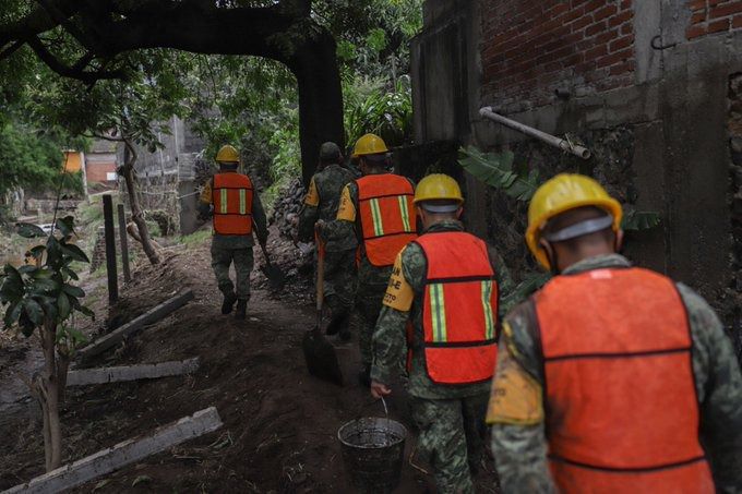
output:
[[[379,200],[391,200],[391,204],[386,203],[387,206],[400,204],[397,202],[397,197],[403,197],[404,191],[400,190],[398,182],[404,182],[402,186],[408,189],[410,196],[414,193],[415,185],[409,179],[387,172],[386,168],[390,165],[387,148],[379,136],[367,134],[359,138],[354,148],[354,158],[358,158],[363,177],[348,183],[343,189],[337,218],[335,221],[323,225],[321,234],[326,241],[328,251],[327,261],[331,264],[346,263],[349,256],[356,255],[356,252],[358,252],[360,257],[358,262],[358,290],[356,292],[356,312],[359,316],[360,325],[358,344],[361,353],[361,369],[358,377],[361,384],[369,386],[373,327],[379,317],[386,284],[392,273],[394,255],[399,252],[407,240],[416,237],[416,222],[414,217],[407,218],[404,231],[395,233],[395,237],[386,237],[387,239],[394,239],[392,242],[396,242],[397,245],[396,251],[388,256],[388,261],[376,262],[371,260],[368,254],[368,243],[364,240],[364,229],[368,229],[368,224],[372,221],[367,218],[367,225],[363,225],[364,219],[361,201],[359,200],[359,184],[364,183],[369,178],[382,180],[383,184],[387,186],[387,192],[380,194]],[[363,200],[363,203],[368,205],[369,202],[373,201],[376,200]],[[411,197],[409,205],[411,208]],[[383,203],[381,213],[374,212],[374,214],[382,216],[382,224],[385,220],[388,220],[388,224],[392,222],[390,214],[399,215],[400,213],[407,215],[409,212],[395,212],[392,210],[392,207],[384,207]],[[380,233],[382,236],[388,234],[390,231]],[[342,261],[338,262],[338,258]],[[347,287],[344,291],[348,291],[350,288]],[[340,290],[338,289],[337,291]]]

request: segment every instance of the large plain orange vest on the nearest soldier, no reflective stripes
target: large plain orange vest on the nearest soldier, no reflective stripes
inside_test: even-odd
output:
[[[690,323],[669,278],[559,276],[535,297],[550,467],[569,493],[713,493]]]

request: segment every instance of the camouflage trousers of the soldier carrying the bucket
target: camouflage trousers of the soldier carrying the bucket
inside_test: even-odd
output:
[[[474,494],[471,478],[484,451],[487,394],[455,399],[410,397],[420,430],[417,455],[427,460],[441,494]]]

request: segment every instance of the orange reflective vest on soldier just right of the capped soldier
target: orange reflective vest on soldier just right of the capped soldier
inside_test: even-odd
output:
[[[417,238],[412,184],[394,173],[369,174],[356,184],[366,256],[374,266],[391,266]]]

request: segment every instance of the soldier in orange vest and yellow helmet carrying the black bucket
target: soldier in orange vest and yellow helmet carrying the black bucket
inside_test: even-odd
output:
[[[441,183],[442,188],[439,186]],[[418,184],[415,197],[424,230],[418,240],[399,253],[388,280],[373,334],[371,390],[376,398],[391,393],[387,384],[392,375],[399,371],[403,354],[407,350],[407,390],[412,417],[420,430],[418,454],[433,468],[439,492],[472,493],[471,478],[482,459],[484,412],[496,356],[494,341],[499,314],[494,308],[498,305],[498,291],[510,291],[512,282],[494,249],[464,233],[464,226],[457,219],[462,214],[463,198],[454,179],[441,174],[428,176]],[[435,239],[441,239],[438,242],[442,242],[442,256],[433,255],[435,251],[428,243]],[[476,274],[470,269],[482,269],[482,266],[486,276],[470,276]],[[438,303],[439,306],[455,308],[441,311],[442,320],[445,321],[445,329],[441,333],[454,339],[451,347],[445,347],[442,341],[431,344],[426,329],[426,324],[430,327],[426,318],[430,321],[435,317],[434,314],[424,313],[433,311],[434,300],[431,298],[426,302],[426,293],[436,286],[429,285],[428,280],[439,278],[442,270],[452,280],[453,277],[459,278],[444,285],[444,302]],[[472,284],[475,290],[471,291]],[[479,284],[489,287],[491,298],[482,294]],[[459,286],[469,287],[469,291],[456,298],[456,292],[450,290]],[[478,320],[475,315],[482,312],[482,298],[489,302],[487,318]],[[426,306],[431,309],[423,311]],[[481,324],[470,324],[472,321],[481,321]],[[410,322],[411,330],[407,329]],[[432,326],[434,328],[435,324]],[[489,335],[486,339],[484,336],[477,336],[478,332],[484,329]],[[456,338],[456,332],[459,338]],[[462,332],[468,332],[464,338],[460,338]],[[469,342],[470,347],[460,345],[462,340]],[[491,351],[488,357],[491,361],[480,365],[479,352],[486,345]],[[436,362],[431,362],[427,357],[431,346],[435,347],[434,350],[447,348],[454,354],[439,354]],[[468,368],[471,362],[476,362],[478,371]],[[446,373],[452,372],[458,375],[457,379],[445,377]],[[462,381],[464,384],[459,384]]]

